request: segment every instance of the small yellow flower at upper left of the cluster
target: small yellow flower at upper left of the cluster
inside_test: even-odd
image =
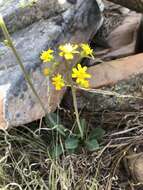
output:
[[[47,51],[43,51],[40,56],[41,60],[44,63],[52,61],[54,59],[53,52],[54,51],[51,49],[48,49]]]

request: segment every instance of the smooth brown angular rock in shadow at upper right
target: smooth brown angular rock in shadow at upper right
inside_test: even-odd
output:
[[[120,26],[114,29],[107,37],[110,51],[103,59],[117,59],[136,53],[137,35],[142,14],[130,12]]]

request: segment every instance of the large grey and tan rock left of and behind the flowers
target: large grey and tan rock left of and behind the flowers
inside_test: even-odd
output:
[[[39,55],[47,48],[55,50],[61,43],[88,42],[103,21],[99,7],[101,4],[97,2],[101,3],[99,0],[39,0],[30,8],[21,9],[17,1],[13,0],[10,5],[4,3],[0,8],[25,69],[47,112],[56,109],[64,90],[55,91],[51,82],[42,75],[43,64]],[[64,72],[63,68],[59,67],[57,72]],[[3,43],[0,44],[0,92],[1,128],[29,123],[45,115],[14,55]]]

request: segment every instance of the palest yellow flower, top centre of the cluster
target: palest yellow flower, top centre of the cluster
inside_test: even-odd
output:
[[[59,55],[61,57],[64,57],[66,60],[72,60],[74,58],[74,54],[79,53],[77,51],[78,45],[73,45],[73,44],[65,44],[65,45],[60,45],[59,50],[61,51]]]

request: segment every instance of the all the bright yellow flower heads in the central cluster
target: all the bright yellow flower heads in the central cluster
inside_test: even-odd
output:
[[[53,68],[55,68],[59,63],[54,61],[54,51],[52,49],[48,49],[47,51],[43,51],[40,55],[43,63],[52,62],[54,64]],[[74,59],[75,55],[79,55],[79,58],[83,57],[94,57],[93,49],[90,48],[88,44],[70,44],[67,43],[65,45],[59,46],[59,56],[63,57],[66,61],[70,61]],[[44,68],[43,74],[48,76],[50,74],[49,68]],[[72,69],[72,78],[75,79],[75,82],[83,88],[89,87],[89,81],[87,79],[91,78],[91,75],[87,73],[87,67],[82,67],[81,64],[78,64],[77,67]],[[65,81],[62,75],[57,74],[52,78],[52,84],[55,86],[56,90],[61,90],[65,86]]]

